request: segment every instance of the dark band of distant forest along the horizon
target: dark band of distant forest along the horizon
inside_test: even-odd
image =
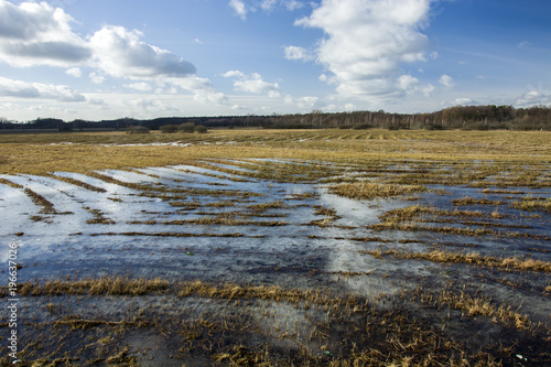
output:
[[[159,130],[163,126],[205,126],[207,128],[260,127],[264,129],[430,129],[430,130],[551,130],[551,108],[539,106],[514,108],[512,106],[456,106],[430,114],[389,114],[379,111],[354,111],[270,116],[219,116],[219,117],[163,117],[150,120],[121,118],[116,120],[64,121],[54,118],[37,118],[18,122],[0,119],[0,132],[15,131],[93,131],[127,130],[143,127]]]

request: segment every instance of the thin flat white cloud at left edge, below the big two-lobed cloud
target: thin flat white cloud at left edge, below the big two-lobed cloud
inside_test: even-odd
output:
[[[84,101],[86,98],[66,85],[26,83],[0,77],[0,96]]]

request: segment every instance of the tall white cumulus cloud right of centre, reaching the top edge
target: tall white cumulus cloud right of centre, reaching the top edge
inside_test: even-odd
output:
[[[341,96],[396,98],[408,83],[396,83],[400,64],[425,60],[429,10],[430,0],[324,0],[295,25],[325,32],[316,60]]]

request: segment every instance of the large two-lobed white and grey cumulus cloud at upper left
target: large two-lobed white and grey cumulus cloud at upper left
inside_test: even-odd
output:
[[[85,40],[74,33],[74,20],[46,2],[14,6],[0,0],[0,60],[13,66],[95,66],[122,78],[186,76],[195,66],[141,41],[137,30],[106,25]]]

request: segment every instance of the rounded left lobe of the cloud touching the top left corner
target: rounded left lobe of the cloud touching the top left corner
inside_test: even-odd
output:
[[[72,31],[72,22],[62,9],[46,2],[15,6],[0,0],[0,60],[18,67],[87,63],[91,51]]]

